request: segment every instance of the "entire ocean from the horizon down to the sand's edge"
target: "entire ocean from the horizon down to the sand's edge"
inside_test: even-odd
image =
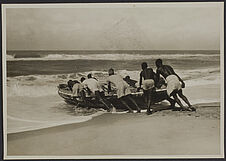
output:
[[[67,105],[58,96],[58,84],[89,73],[104,81],[109,68],[138,80],[141,63],[155,71],[158,58],[175,69],[186,87],[220,85],[218,50],[7,51],[7,132],[90,120],[105,111]]]

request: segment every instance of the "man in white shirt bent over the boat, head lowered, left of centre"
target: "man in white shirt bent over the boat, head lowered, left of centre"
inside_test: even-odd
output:
[[[103,103],[108,112],[111,110],[115,111],[115,107],[104,98],[103,89],[95,78],[89,77],[88,79],[84,80],[82,84],[84,88],[88,88],[91,93],[95,94],[96,99]]]

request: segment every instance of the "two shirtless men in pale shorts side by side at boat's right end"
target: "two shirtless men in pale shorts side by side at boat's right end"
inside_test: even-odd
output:
[[[144,95],[146,96],[147,102],[147,114],[153,113],[151,105],[154,103],[153,95],[155,94],[155,87],[159,87],[159,85],[165,84],[164,79],[166,80],[166,99],[169,102],[174,102],[173,104],[171,104],[171,107],[173,108],[175,103],[177,103],[180,106],[181,110],[196,111],[196,109],[190,104],[187,97],[182,92],[182,88],[185,88],[184,81],[175,73],[173,68],[169,65],[163,65],[161,59],[157,59],[155,61],[155,65],[157,67],[156,73],[152,68],[148,68],[146,62],[143,62],[141,64],[142,71],[140,73],[139,88],[141,88],[141,85],[143,84]],[[164,79],[162,79],[160,75]],[[142,79],[144,79],[143,83]],[[171,99],[171,96],[174,99]],[[188,107],[185,107],[181,103],[178,96],[188,105]]]

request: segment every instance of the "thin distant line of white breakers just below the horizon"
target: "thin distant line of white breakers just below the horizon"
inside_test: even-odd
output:
[[[32,61],[32,60],[144,60],[158,59],[159,54],[48,54],[32,57],[17,57],[16,55],[7,55],[7,61]],[[219,59],[220,54],[161,54],[162,59],[198,59],[213,60]]]

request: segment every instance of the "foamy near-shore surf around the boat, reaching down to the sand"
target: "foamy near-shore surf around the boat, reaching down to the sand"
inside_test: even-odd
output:
[[[129,75],[138,81],[140,71],[118,70],[122,77]],[[186,86],[220,84],[220,69],[176,70]],[[57,96],[59,83],[79,80],[92,73],[100,81],[108,76],[104,71],[57,75],[27,75],[7,77],[7,133],[38,130],[59,125],[85,122],[105,113],[102,109],[77,108]],[[20,97],[18,97],[20,96]],[[22,96],[22,97],[21,97]],[[42,97],[44,96],[44,97]],[[218,99],[191,100],[191,103],[219,102]]]

